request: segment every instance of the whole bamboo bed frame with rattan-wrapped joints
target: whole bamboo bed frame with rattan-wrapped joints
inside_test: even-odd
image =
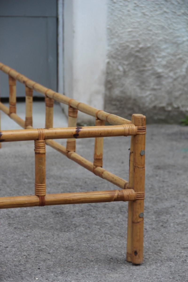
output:
[[[133,114],[132,120],[95,109],[84,103],[54,92],[36,83],[16,70],[0,63],[0,69],[8,74],[9,108],[0,102],[0,110],[10,116],[23,129],[0,132],[0,142],[34,140],[35,195],[0,198],[0,208],[21,208],[59,204],[83,204],[112,201],[129,201],[127,226],[127,261],[140,264],[143,261],[143,209],[145,179],[146,122],[142,114]],[[25,121],[16,114],[16,80],[25,84]],[[45,95],[45,128],[32,127],[33,90]],[[68,105],[68,127],[53,128],[54,100]],[[77,127],[78,110],[94,116],[95,126]],[[105,122],[112,124],[105,126]],[[129,181],[102,168],[103,137],[131,136]],[[77,138],[95,138],[93,163],[75,152]],[[67,139],[64,147],[53,139]],[[122,190],[79,193],[46,194],[45,145],[49,145],[95,175],[113,183]],[[1,143],[0,143],[1,145]]]

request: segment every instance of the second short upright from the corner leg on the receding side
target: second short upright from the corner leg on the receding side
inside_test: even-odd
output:
[[[68,103],[68,127],[76,127],[78,110],[70,106],[70,101]],[[67,139],[66,150],[67,150],[67,153],[76,151],[76,139],[75,138]]]

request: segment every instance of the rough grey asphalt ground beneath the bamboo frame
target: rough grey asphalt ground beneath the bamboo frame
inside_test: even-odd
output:
[[[44,105],[35,107],[34,127],[43,127]],[[58,105],[54,116],[54,126],[66,126]],[[2,130],[15,128],[7,118],[2,114]],[[148,125],[146,136],[142,265],[125,260],[127,202],[7,209],[0,281],[188,281],[188,127]],[[91,161],[93,147],[93,139],[77,140]],[[130,137],[104,138],[104,168],[127,180],[129,147]],[[3,143],[0,153],[1,197],[34,194],[34,142]],[[48,146],[46,158],[47,193],[115,187]]]

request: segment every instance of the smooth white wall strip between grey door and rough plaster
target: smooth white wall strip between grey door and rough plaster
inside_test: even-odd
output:
[[[107,0],[64,0],[64,92],[97,109],[104,107],[106,27]],[[79,112],[83,120],[94,118]]]

